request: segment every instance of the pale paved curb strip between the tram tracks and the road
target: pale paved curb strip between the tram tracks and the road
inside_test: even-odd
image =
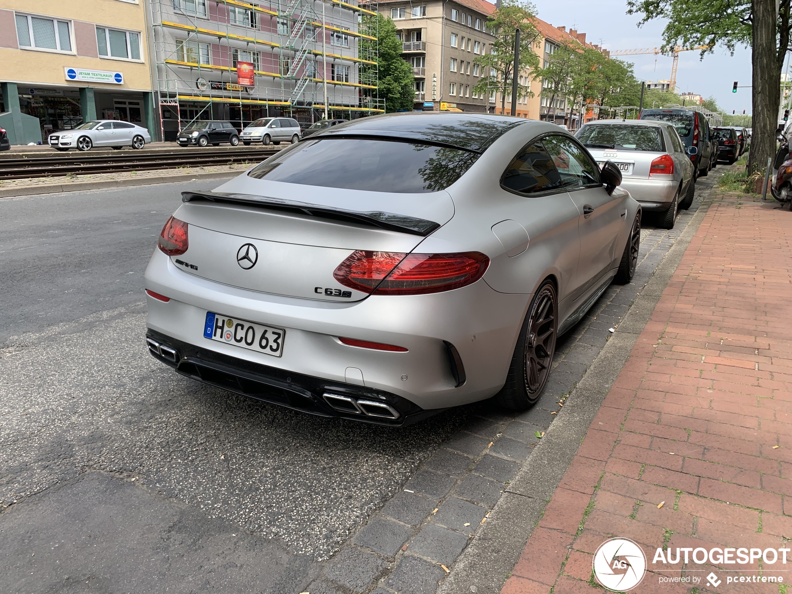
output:
[[[181,167],[132,173],[97,173],[74,177],[35,177],[25,180],[0,181],[0,199],[30,194],[77,192],[102,188],[123,188],[133,185],[169,184],[174,181],[192,181],[213,177],[234,177],[246,171],[250,163],[213,167]]]

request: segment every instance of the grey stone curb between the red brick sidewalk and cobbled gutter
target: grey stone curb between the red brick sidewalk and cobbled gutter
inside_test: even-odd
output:
[[[713,190],[706,188],[708,194]],[[618,331],[569,394],[563,413],[550,425],[546,436],[493,508],[487,523],[456,560],[453,571],[437,589],[438,594],[501,591],[711,204],[707,195],[657,265]]]

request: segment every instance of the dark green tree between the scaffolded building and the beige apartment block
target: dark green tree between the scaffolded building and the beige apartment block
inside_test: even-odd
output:
[[[379,22],[371,23],[377,19]],[[385,111],[413,109],[415,101],[415,78],[413,67],[402,58],[402,40],[396,35],[396,25],[390,18],[378,14],[364,15],[364,25],[377,31],[377,41],[362,38],[361,44],[375,45],[377,68],[379,69],[375,97],[385,100]],[[363,64],[363,68],[371,68]]]

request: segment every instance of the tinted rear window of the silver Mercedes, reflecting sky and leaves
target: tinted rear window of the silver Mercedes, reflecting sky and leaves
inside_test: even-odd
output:
[[[462,177],[478,154],[382,139],[309,139],[268,158],[257,179],[370,192],[437,192]]]

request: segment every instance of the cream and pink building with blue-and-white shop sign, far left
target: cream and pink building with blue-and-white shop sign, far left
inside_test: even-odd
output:
[[[146,0],[0,0],[0,126],[12,144],[97,118],[156,136]]]

